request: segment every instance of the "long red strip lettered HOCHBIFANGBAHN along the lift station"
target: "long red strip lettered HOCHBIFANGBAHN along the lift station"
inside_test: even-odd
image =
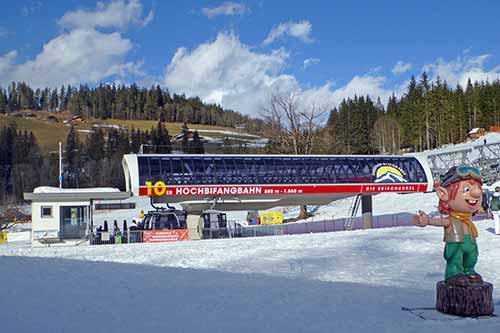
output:
[[[242,196],[335,193],[413,193],[426,192],[427,183],[369,183],[330,185],[204,185],[165,186],[161,191],[141,186],[141,196]]]

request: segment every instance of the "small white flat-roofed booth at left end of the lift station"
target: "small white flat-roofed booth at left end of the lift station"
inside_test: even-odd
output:
[[[33,193],[25,193],[25,200],[31,201],[32,245],[80,242],[93,225],[96,200],[125,200],[129,197],[129,192],[113,188],[39,187]]]

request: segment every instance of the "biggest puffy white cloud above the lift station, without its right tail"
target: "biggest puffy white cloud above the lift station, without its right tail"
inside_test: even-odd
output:
[[[258,112],[272,87],[296,86],[293,77],[280,74],[287,57],[283,50],[252,52],[237,36],[219,33],[191,52],[179,48],[164,83],[176,92],[251,114]]]

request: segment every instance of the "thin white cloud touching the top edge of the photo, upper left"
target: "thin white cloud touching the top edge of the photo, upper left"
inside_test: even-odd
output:
[[[64,14],[58,23],[61,27],[72,28],[118,28],[126,29],[130,24],[145,26],[154,17],[151,10],[142,17],[142,4],[139,0],[112,0],[104,4],[98,2],[95,10],[76,10]]]

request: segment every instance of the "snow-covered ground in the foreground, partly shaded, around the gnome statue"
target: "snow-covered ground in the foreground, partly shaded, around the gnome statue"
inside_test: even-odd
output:
[[[500,237],[477,222],[484,278]],[[399,227],[69,248],[0,246],[5,332],[499,332],[434,307],[442,230]],[[500,291],[494,290],[496,313]],[[425,311],[423,311],[425,312]]]

